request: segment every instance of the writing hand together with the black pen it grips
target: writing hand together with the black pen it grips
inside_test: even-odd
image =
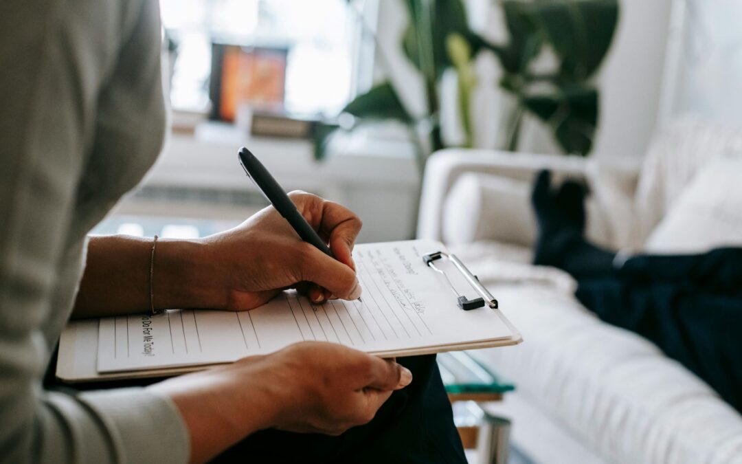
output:
[[[209,287],[218,288],[220,283],[227,286],[223,299],[216,301],[217,307],[249,310],[286,287],[296,287],[314,303],[335,297],[360,298],[361,286],[352,260],[352,247],[361,230],[358,216],[315,195],[286,195],[247,148],[240,148],[237,157],[245,174],[272,206],[236,229],[203,241],[211,253],[226,258],[217,260],[218,267],[210,274]],[[249,250],[254,263],[266,264],[268,269],[246,267],[230,259],[245,250]],[[214,276],[218,280],[214,281]]]

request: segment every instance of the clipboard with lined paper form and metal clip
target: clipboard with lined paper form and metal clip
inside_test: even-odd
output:
[[[338,300],[314,305],[303,296],[288,292],[263,307],[243,313],[173,310],[160,316],[123,316],[125,324],[121,320],[119,324],[115,321],[111,324],[111,318],[73,321],[60,339],[56,376],[67,383],[174,376],[234,362],[251,354],[271,353],[293,342],[312,339],[310,330],[315,339],[324,340],[321,330],[325,330],[329,342],[340,342],[381,357],[417,356],[522,342],[522,336],[502,314],[496,298],[459,258],[448,254],[440,242],[361,244],[355,247],[353,258],[364,288],[361,304]],[[473,295],[477,296],[469,298]],[[165,337],[158,339],[156,345],[160,350],[157,356],[164,357],[153,360],[139,356],[139,323],[143,319],[147,320],[147,327],[154,327],[157,336]],[[199,344],[203,344],[204,351],[212,342],[228,346],[226,340],[230,333],[234,333],[236,341],[229,345],[229,350],[217,353],[219,356],[203,353],[199,357],[189,353],[190,357],[179,358],[183,353],[176,353],[178,344],[180,338],[188,342],[191,320],[198,324]],[[183,335],[177,338],[175,333],[180,333],[180,328],[174,330],[174,327],[177,328],[179,321],[183,324]],[[165,325],[168,322],[171,324],[170,339],[167,339]],[[364,323],[368,326],[365,332]],[[117,337],[110,336],[112,326],[119,331]],[[123,333],[124,326],[133,333]],[[400,327],[407,327],[409,339]],[[347,335],[342,333],[344,328]],[[394,328],[398,340],[393,340]],[[240,341],[240,330],[244,344]],[[336,331],[338,339],[332,339],[332,330]],[[364,334],[365,342],[361,344],[358,336],[362,338]],[[374,334],[372,341],[370,336]],[[388,336],[388,340],[381,334]],[[263,345],[256,347],[253,341],[258,337],[263,337],[258,340],[262,340]],[[127,356],[131,354],[134,359],[111,358],[108,344],[112,339],[119,343],[119,356],[128,351]],[[121,344],[124,339],[129,344],[126,347]],[[265,340],[273,344],[266,345]],[[190,346],[192,351],[194,345]],[[229,356],[222,356],[224,353]],[[143,364],[137,364],[139,362]]]

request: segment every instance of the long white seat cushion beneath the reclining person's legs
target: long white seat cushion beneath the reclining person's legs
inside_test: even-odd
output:
[[[742,416],[711,388],[563,288],[498,284],[487,269],[513,264],[486,249],[479,259],[458,251],[524,342],[476,356],[616,463],[742,463]]]

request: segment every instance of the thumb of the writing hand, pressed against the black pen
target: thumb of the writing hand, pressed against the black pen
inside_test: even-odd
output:
[[[361,285],[353,269],[314,246],[309,247],[300,264],[301,281],[314,282],[339,298],[355,300],[361,296]]]

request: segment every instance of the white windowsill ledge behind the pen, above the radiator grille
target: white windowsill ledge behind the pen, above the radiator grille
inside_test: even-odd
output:
[[[232,125],[206,122],[194,135],[172,134],[147,185],[242,189],[252,184],[237,163],[246,146],[286,189],[323,191],[332,186],[416,189],[419,174],[410,143],[372,139],[368,132],[341,135],[326,160],[317,162],[309,140],[247,137]]]

